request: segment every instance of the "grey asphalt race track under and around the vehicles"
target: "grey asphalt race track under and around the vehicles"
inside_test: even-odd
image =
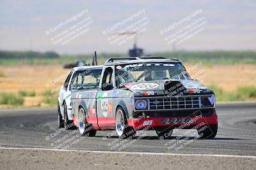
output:
[[[81,137],[76,130],[58,131],[55,108],[0,110],[0,148],[256,156],[256,103],[221,103],[216,110],[216,138],[181,138],[193,131],[180,130],[174,132],[172,142],[158,139],[154,131],[139,131],[137,140],[127,141],[119,140],[112,131],[98,131],[95,137]]]

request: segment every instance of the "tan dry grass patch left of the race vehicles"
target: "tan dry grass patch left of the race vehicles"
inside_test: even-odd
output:
[[[63,69],[61,65],[1,66],[1,69],[4,70],[5,76],[0,77],[0,92],[12,92],[14,94],[19,94],[20,90],[35,92],[34,97],[24,97],[25,107],[49,106],[49,104],[42,103],[42,92],[47,89],[60,89],[63,81],[65,81],[65,74],[70,72],[69,69]],[[46,87],[47,84],[49,87]],[[6,108],[6,106],[0,106],[0,108]]]

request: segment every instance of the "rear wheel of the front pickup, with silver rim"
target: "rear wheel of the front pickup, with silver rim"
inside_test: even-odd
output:
[[[78,113],[78,129],[81,136],[90,136],[93,137],[96,135],[96,130],[93,129],[93,126],[86,122],[86,115],[84,109],[79,108]]]

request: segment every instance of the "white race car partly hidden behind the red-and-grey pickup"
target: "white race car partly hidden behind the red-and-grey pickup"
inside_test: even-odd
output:
[[[95,89],[99,87],[100,74],[103,66],[74,67],[61,86],[58,96],[58,125],[60,128],[74,129],[71,94],[77,89]],[[80,86],[79,86],[79,85]]]

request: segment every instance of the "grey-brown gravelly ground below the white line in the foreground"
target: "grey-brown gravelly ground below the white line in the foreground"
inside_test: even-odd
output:
[[[253,169],[256,159],[0,149],[1,169]]]

